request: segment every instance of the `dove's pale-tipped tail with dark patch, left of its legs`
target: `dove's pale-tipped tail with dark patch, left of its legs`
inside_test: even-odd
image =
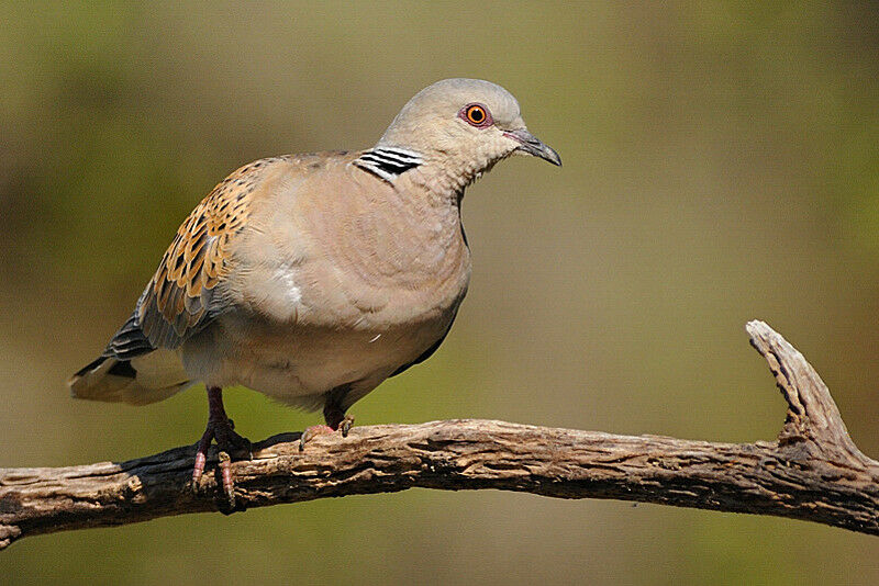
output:
[[[179,356],[156,350],[131,360],[101,357],[74,374],[67,385],[76,398],[146,405],[190,385]]]

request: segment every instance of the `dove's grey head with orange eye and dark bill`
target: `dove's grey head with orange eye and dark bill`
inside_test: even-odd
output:
[[[561,165],[558,154],[528,132],[515,98],[481,79],[444,79],[421,90],[376,146],[418,153],[464,183],[516,153]]]

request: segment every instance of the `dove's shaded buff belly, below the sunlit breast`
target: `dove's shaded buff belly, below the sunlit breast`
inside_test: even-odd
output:
[[[363,396],[445,336],[463,298],[405,324],[310,325],[231,313],[186,342],[192,380],[243,385],[280,402],[319,408],[323,394],[351,386]],[[410,316],[411,317],[411,316]]]

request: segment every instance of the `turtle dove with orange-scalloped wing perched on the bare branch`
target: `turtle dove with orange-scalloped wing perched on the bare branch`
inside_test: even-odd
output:
[[[300,449],[343,436],[348,408],[426,360],[467,293],[465,189],[524,154],[560,166],[516,99],[479,79],[416,93],[371,148],[283,155],[232,172],[177,230],[134,312],[68,381],[76,398],[145,405],[204,383],[212,442],[234,504],[229,454],[249,453],[222,390],[242,385],[323,410]]]

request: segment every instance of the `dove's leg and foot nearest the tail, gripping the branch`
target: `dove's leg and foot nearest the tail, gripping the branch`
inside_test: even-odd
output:
[[[251,453],[251,442],[235,433],[235,425],[226,416],[223,407],[223,391],[219,387],[208,388],[208,427],[198,443],[196,450],[196,465],[192,467],[192,487],[197,488],[198,483],[204,473],[204,464],[208,460],[208,449],[211,441],[216,440],[220,450],[220,471],[223,476],[223,493],[234,506],[235,492],[232,482],[232,459],[230,453],[246,454]]]

